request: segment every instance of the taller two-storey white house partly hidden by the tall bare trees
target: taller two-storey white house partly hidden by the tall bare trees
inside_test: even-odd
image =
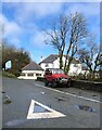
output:
[[[47,58],[42,60],[39,65],[46,70],[46,68],[60,68],[60,58],[58,54],[51,54]],[[67,61],[68,62],[68,61]],[[63,64],[65,63],[65,56],[63,56]],[[76,58],[74,58],[69,66],[68,75],[74,76],[78,74],[85,74],[84,65]]]

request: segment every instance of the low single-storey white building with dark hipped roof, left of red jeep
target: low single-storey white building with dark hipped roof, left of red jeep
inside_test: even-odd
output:
[[[43,77],[44,70],[35,62],[29,63],[22,68],[20,79],[37,79],[37,77]]]

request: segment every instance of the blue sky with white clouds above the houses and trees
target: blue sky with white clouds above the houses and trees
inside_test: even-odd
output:
[[[88,29],[100,42],[100,2],[3,2],[2,21],[4,37],[9,43],[24,48],[37,63],[52,53],[58,53],[44,43],[41,28],[50,29],[47,22],[60,13],[81,12],[88,20]],[[0,14],[1,17],[1,14]]]

